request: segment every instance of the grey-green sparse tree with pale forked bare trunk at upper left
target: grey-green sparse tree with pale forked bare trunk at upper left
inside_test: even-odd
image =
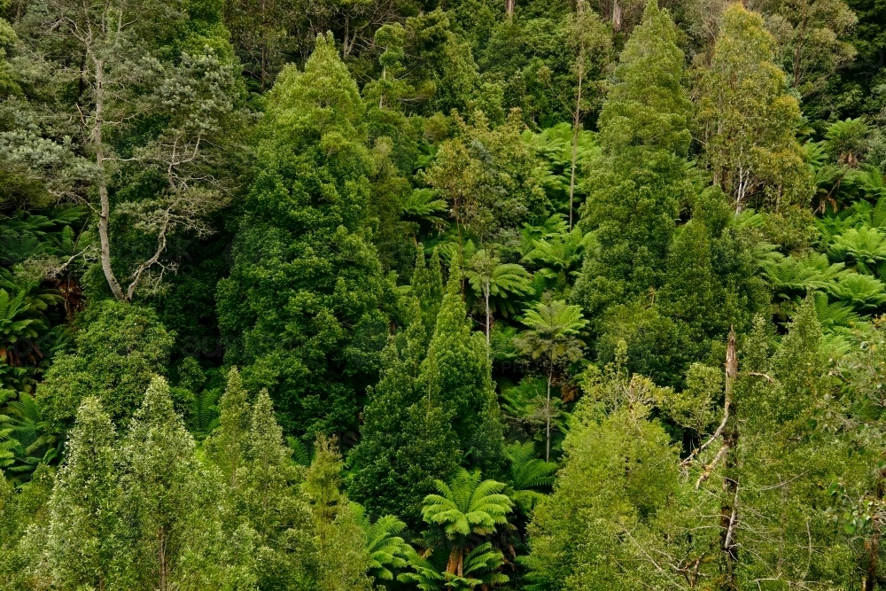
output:
[[[165,258],[170,237],[206,235],[212,231],[206,214],[225,204],[216,167],[224,169],[219,148],[236,128],[239,89],[230,46],[214,27],[220,10],[220,4],[58,0],[28,15],[36,62],[53,72],[45,86],[79,89],[73,101],[35,103],[28,115],[47,137],[23,125],[4,144],[4,155],[29,166],[55,197],[76,198],[97,216],[101,273],[118,301],[156,288],[173,268]],[[72,51],[82,56],[73,67]],[[76,121],[73,134],[57,110]],[[71,135],[75,144],[60,139]],[[127,218],[130,231],[115,237],[114,222]]]

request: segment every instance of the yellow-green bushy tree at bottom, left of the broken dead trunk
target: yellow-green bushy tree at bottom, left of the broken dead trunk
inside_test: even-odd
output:
[[[650,542],[672,540],[681,517],[679,455],[663,425],[649,419],[661,389],[618,364],[584,389],[554,492],[532,512],[531,551],[520,560],[528,580],[533,588],[581,591],[694,588],[640,559]],[[703,547],[705,532],[693,535]],[[676,543],[684,539],[691,536]],[[671,548],[658,550],[653,560],[667,564]],[[674,554],[682,557],[680,550]]]

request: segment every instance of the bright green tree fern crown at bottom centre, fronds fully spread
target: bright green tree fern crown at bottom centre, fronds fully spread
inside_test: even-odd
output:
[[[424,497],[424,521],[441,526],[449,540],[494,533],[497,525],[507,524],[513,503],[502,494],[505,485],[481,478],[479,470],[462,469],[450,484],[437,480],[439,494]]]

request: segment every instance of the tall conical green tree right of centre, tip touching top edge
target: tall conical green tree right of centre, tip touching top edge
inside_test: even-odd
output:
[[[671,17],[651,0],[621,54],[600,114],[603,158],[587,181],[580,223],[599,246],[587,253],[573,298],[592,315],[662,282],[660,261],[691,189],[683,61]]]

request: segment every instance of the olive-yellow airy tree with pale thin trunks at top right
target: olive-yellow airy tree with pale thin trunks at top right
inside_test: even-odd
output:
[[[774,59],[762,17],[741,4],[729,6],[701,77],[698,118],[705,163],[739,212],[805,206],[812,196],[794,132],[800,109]]]

